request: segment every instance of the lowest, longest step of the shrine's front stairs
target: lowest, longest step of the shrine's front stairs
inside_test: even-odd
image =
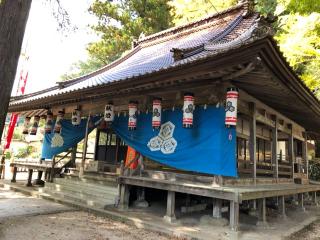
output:
[[[105,200],[105,199],[96,199],[96,198],[89,198],[89,197],[84,197],[80,194],[74,194],[74,193],[66,193],[66,192],[59,192],[59,191],[53,191],[49,189],[42,189],[42,193],[49,194],[54,197],[66,199],[66,200],[71,200],[75,203],[80,203],[80,204],[85,204],[90,207],[97,207],[103,209],[106,205],[113,205],[115,203],[114,200]]]

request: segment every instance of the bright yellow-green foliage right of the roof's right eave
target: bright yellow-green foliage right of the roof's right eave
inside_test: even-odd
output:
[[[290,66],[316,95],[320,87],[320,14],[298,13],[279,18],[275,39]]]

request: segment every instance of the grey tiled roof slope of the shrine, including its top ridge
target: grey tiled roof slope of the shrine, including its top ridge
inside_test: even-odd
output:
[[[204,46],[232,42],[254,25],[258,16],[252,14],[244,17],[245,11],[243,5],[238,5],[199,21],[148,36],[140,40],[138,45],[128,54],[106,67],[87,76],[63,82],[60,86],[57,85],[25,96],[13,97],[10,105],[19,105],[139,77],[215,54],[216,51],[212,47],[208,47],[206,50]],[[198,51],[186,55],[185,58],[178,61],[173,58],[172,49],[185,51],[193,48]]]

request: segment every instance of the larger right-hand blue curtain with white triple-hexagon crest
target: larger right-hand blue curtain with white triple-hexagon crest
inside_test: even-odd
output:
[[[128,116],[115,118],[112,127],[127,145],[142,155],[181,170],[237,176],[236,131],[226,128],[224,108],[197,107],[194,126],[182,127],[182,111],[162,113],[160,130],[151,126],[152,114],[137,116],[137,130],[128,130]]]

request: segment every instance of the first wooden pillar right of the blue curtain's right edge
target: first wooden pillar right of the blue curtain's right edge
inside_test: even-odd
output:
[[[257,124],[256,124],[256,104],[249,103],[249,109],[251,112],[250,117],[250,138],[249,138],[249,154],[250,161],[253,162],[253,179],[254,184],[257,183]]]

